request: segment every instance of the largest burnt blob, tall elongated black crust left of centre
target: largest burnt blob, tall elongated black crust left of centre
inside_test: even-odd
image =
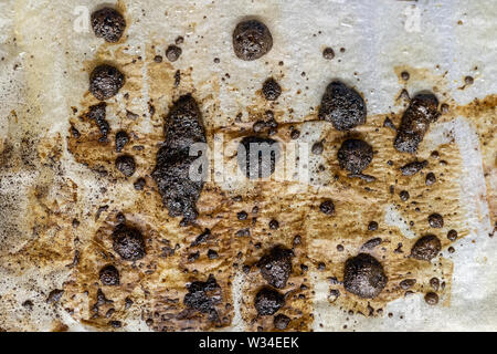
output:
[[[202,117],[191,95],[175,102],[166,118],[165,137],[152,178],[169,215],[182,215],[184,222],[190,222],[197,218],[197,200],[203,188],[203,178],[190,178],[190,166],[198,159],[198,156],[190,156],[190,147],[205,143]],[[199,177],[205,173],[199,170]]]

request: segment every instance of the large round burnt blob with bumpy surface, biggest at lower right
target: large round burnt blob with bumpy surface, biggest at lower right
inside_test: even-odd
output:
[[[387,285],[387,281],[383,266],[370,254],[359,253],[345,263],[343,287],[360,298],[378,296]]]

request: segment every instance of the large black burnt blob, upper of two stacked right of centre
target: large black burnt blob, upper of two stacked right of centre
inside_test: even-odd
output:
[[[356,90],[334,81],[326,87],[318,116],[337,131],[350,131],[366,123],[366,103]]]

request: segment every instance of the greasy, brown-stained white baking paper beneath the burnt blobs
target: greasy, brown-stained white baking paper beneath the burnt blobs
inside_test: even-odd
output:
[[[264,282],[255,267],[245,274],[242,266],[253,264],[272,244],[292,247],[299,235],[304,242],[295,248],[288,288],[295,295],[283,309],[293,319],[288,330],[496,330],[496,243],[489,235],[496,220],[497,10],[491,1],[121,1],[117,8],[128,27],[125,38],[113,45],[104,44],[91,29],[81,29],[78,6],[0,3],[2,329],[113,330],[108,321],[119,320],[124,330],[212,330],[200,315],[184,320],[178,313],[186,283],[215,273],[223,304],[230,304],[223,310],[221,329],[273,330],[272,319],[255,319],[252,305]],[[98,7],[98,1],[87,1],[83,11],[91,13]],[[258,61],[236,60],[232,51],[232,29],[246,17],[263,20],[273,34],[272,51]],[[184,37],[182,54],[169,63],[163,51],[179,35]],[[322,58],[326,46],[335,50],[331,61]],[[165,61],[155,63],[156,54]],[[126,180],[113,169],[114,145],[96,144],[95,126],[80,119],[96,103],[87,92],[88,72],[101,62],[117,64],[126,74],[125,87],[108,102],[107,118],[113,133],[131,131],[133,145],[142,146],[127,148],[137,159],[135,176],[147,179],[144,192],[136,192],[134,179]],[[182,76],[175,88],[177,70]],[[410,72],[406,83],[400,79],[402,71]],[[474,83],[466,86],[467,75]],[[258,92],[269,76],[283,87],[276,104],[264,102]],[[371,185],[347,179],[336,162],[343,135],[316,122],[320,97],[332,79],[355,86],[367,102],[367,124],[355,134],[376,150],[367,170],[378,178]],[[393,150],[394,133],[383,127],[385,116],[400,122],[405,110],[405,102],[398,100],[402,88],[411,96],[433,91],[450,105],[417,153],[420,159],[429,159],[438,179],[429,190],[424,175],[399,177],[395,168],[412,157]],[[215,133],[224,133],[226,144],[243,136],[242,128],[250,129],[271,108],[281,124],[279,140],[287,142],[293,128],[300,131],[303,142],[325,139],[325,153],[311,160],[325,171],[304,189],[277,183],[209,183],[199,201],[198,226],[179,227],[178,219],[167,216],[149,174],[162,140],[163,115],[184,93],[199,101],[211,145]],[[138,118],[129,118],[127,111]],[[239,113],[242,116],[236,118]],[[71,125],[82,133],[80,139],[71,136]],[[434,149],[447,164],[430,157]],[[394,167],[387,164],[389,159]],[[102,169],[107,175],[95,171]],[[394,195],[388,191],[392,184]],[[421,212],[398,207],[402,189],[410,191]],[[237,195],[242,201],[233,200]],[[316,211],[322,198],[335,200],[336,219]],[[251,226],[251,238],[233,237],[247,226],[234,211],[250,212],[254,205],[260,215]],[[103,206],[107,209],[97,217]],[[150,252],[138,266],[116,260],[124,285],[103,289],[114,303],[105,304],[95,319],[96,273],[108,261],[102,253],[112,248],[108,235],[119,211],[147,235]],[[405,256],[415,238],[429,231],[426,218],[435,211],[445,220],[444,228],[435,231],[443,241],[442,257],[433,267],[419,264]],[[273,218],[281,228],[268,232]],[[77,228],[73,219],[81,222]],[[371,220],[380,226],[373,236],[367,231]],[[190,263],[188,257],[197,249],[189,244],[204,228],[215,239],[201,246],[201,257]],[[459,235],[451,244],[454,253],[447,252],[450,229]],[[374,254],[385,257],[390,291],[368,303],[329,278],[341,280],[343,261],[372,237],[389,240],[384,251]],[[399,241],[404,253],[394,252]],[[254,247],[257,242],[261,249]],[[165,246],[176,244],[180,248],[173,256],[161,257]],[[343,252],[337,251],[338,244]],[[204,253],[214,246],[220,258],[213,262]],[[78,263],[71,266],[76,251]],[[325,271],[317,270],[318,262],[326,262]],[[306,273],[300,263],[308,267]],[[416,274],[417,285],[414,294],[404,296],[398,282],[408,272]],[[438,293],[438,305],[429,306],[423,296],[435,275],[447,285]],[[53,289],[64,289],[64,295],[60,303],[47,304]],[[330,289],[341,293],[334,303],[328,300]],[[129,310],[124,306],[126,298],[134,300]],[[381,312],[369,316],[369,305]],[[109,309],[115,312],[107,319]]]

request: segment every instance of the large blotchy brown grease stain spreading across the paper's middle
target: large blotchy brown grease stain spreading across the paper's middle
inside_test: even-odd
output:
[[[125,37],[126,33],[123,38]],[[221,114],[216,100],[218,77],[205,83],[210,90],[204,94],[199,87],[192,86],[192,69],[181,70],[180,84],[175,87],[177,67],[167,61],[161,63],[154,61],[156,55],[154,45],[157,43],[147,44],[146,54],[141,59],[139,55],[127,54],[125,44],[117,46],[103,44],[95,60],[85,64],[84,70],[91,72],[97,64],[110,63],[126,76],[126,84],[119,95],[107,101],[107,118],[110,123],[108,143],[98,142],[98,128],[84,117],[88,107],[97,103],[89,93],[83,97],[77,114],[70,117],[70,123],[81,136],[74,137],[68,132],[67,149],[77,164],[101,171],[96,176],[106,184],[113,197],[104,197],[94,205],[84,206],[86,199],[83,196],[85,192],[82,190],[83,186],[76,186],[70,178],[61,176],[55,183],[49,183],[53,180],[53,174],[43,171],[40,180],[46,183],[36,184],[28,194],[32,215],[27,221],[33,230],[32,239],[28,240],[19,252],[9,256],[9,259],[22,266],[43,267],[49,262],[67,264],[71,277],[64,285],[65,293],[61,303],[72,311],[75,319],[103,330],[112,329],[110,321],[121,321],[126,324],[127,319],[139,317],[141,314],[154,330],[213,330],[228,326],[234,315],[233,295],[230,290],[234,275],[244,272],[244,266],[248,266],[242,289],[242,317],[248,330],[260,327],[274,330],[273,316],[257,316],[253,302],[257,290],[265,285],[255,263],[276,244],[290,248],[295,253],[293,272],[285,289],[281,290],[286,294],[286,304],[277,312],[290,317],[288,331],[311,329],[310,272],[317,272],[321,279],[337,279],[337,284],[330,284],[330,289],[340,291],[335,305],[347,311],[368,314],[370,311],[368,306],[374,310],[382,309],[387,302],[404,295],[405,291],[399,288],[400,281],[404,279],[416,279],[416,284],[411,291],[423,293],[432,291],[429,282],[433,277],[437,277],[441,283],[445,282],[445,288],[438,290],[438,295],[444,305],[450,304],[452,262],[443,257],[433,263],[409,258],[415,239],[408,239],[398,228],[387,225],[384,208],[389,205],[395,206],[408,222],[414,222],[411,230],[416,236],[427,232],[438,236],[445,254],[451,243],[446,238],[448,230],[456,229],[458,237],[467,235],[463,222],[464,216],[458,212],[459,186],[456,180],[461,158],[456,144],[440,146],[437,159],[430,157],[431,152],[423,149],[422,145],[417,158],[427,159],[429,167],[415,176],[403,177],[399,167],[411,162],[413,157],[394,150],[392,146],[394,132],[383,127],[385,115],[368,117],[366,125],[351,133],[352,137],[364,138],[374,149],[373,160],[363,173],[374,176],[377,180],[366,183],[358,178],[350,179],[339,169],[336,154],[346,135],[336,132],[329,124],[322,124],[320,139],[325,144],[324,174],[337,175],[337,180],[332,179],[320,188],[308,187],[295,189],[296,191],[293,191],[296,187],[294,183],[247,183],[236,190],[229,191],[210,181],[204,186],[200,197],[198,204],[200,216],[195,225],[180,227],[178,218],[168,217],[150,178],[158,145],[163,139],[163,116],[172,101],[184,93],[197,95],[210,145],[213,143],[214,133],[224,133],[226,142],[232,137],[240,138],[250,134],[252,124],[263,118],[267,110],[274,111],[277,122],[284,121],[286,113],[278,107],[277,102],[265,102],[258,93],[254,93],[254,105],[246,107],[248,122],[235,124],[232,118],[229,126],[220,124],[222,119],[214,123],[218,119],[214,118],[216,114]],[[144,70],[148,80],[142,76]],[[410,81],[430,80],[434,83],[434,87],[427,88],[435,92],[440,91],[437,87],[444,86],[444,79],[430,74],[429,71],[412,67],[395,69],[399,75],[402,71],[410,73]],[[144,86],[145,83],[147,86]],[[145,93],[149,102],[145,102],[144,105]],[[125,94],[128,98],[124,97]],[[200,97],[201,94],[204,96]],[[441,97],[440,101],[445,100]],[[150,115],[148,103],[155,107],[154,115]],[[487,200],[494,220],[497,208],[493,188],[497,144],[494,132],[495,103],[495,96],[488,96],[466,106],[452,108],[440,118],[440,122],[445,122],[461,114],[475,125],[482,142]],[[400,122],[401,113],[389,114],[395,125]],[[306,118],[306,121],[314,119],[315,115]],[[230,123],[228,119],[226,122]],[[288,142],[292,128],[302,127],[303,123],[281,125],[274,138]],[[130,178],[125,178],[114,167],[115,158],[118,156],[115,152],[114,136],[118,129],[125,129],[130,136],[130,142],[121,152],[133,155],[136,159],[137,169]],[[36,157],[40,163],[56,170],[57,163],[64,154],[61,138],[39,142],[36,145]],[[11,157],[17,152],[9,146],[9,142],[3,145],[2,166],[9,163],[13,164],[9,166],[10,169],[15,166],[27,167],[30,159],[20,155],[13,162]],[[389,166],[388,160],[392,160],[393,166]],[[448,164],[443,165],[441,160]],[[106,175],[103,174],[104,170]],[[437,179],[430,187],[424,181],[429,171],[433,171]],[[133,181],[138,177],[146,179],[145,189],[140,191],[133,188]],[[390,194],[389,186],[394,186],[393,195]],[[411,198],[408,201],[400,200],[401,190],[410,192]],[[242,196],[242,200],[234,198],[237,195]],[[334,216],[326,216],[319,211],[319,204],[328,198],[335,202]],[[96,212],[102,205],[108,205],[108,209],[97,219]],[[255,206],[258,211],[253,214]],[[236,218],[236,214],[242,210],[248,214],[246,220]],[[139,261],[124,261],[113,250],[112,231],[117,223],[118,212],[125,216],[128,225],[138,228],[145,236],[147,256]],[[442,229],[429,228],[427,216],[432,212],[438,212],[444,217]],[[76,217],[82,220],[82,225],[77,228],[73,226],[73,219]],[[279,222],[278,229],[269,229],[268,223],[272,219]],[[368,231],[368,223],[372,220],[379,223],[379,229],[373,232]],[[192,246],[207,228],[210,229],[207,240]],[[236,236],[241,229],[248,229],[250,236]],[[299,244],[294,244],[296,236],[302,238]],[[360,252],[366,241],[376,237],[382,238],[382,242],[368,252],[383,264],[389,282],[378,298],[359,299],[347,293],[340,284],[343,262]],[[399,250],[399,243],[402,243],[402,252],[395,252]],[[339,244],[343,247],[342,251],[337,250]],[[76,250],[78,261],[73,263]],[[219,257],[209,259],[207,256],[209,250],[214,250]],[[197,252],[198,258],[192,258]],[[326,267],[317,271],[321,262]],[[114,264],[119,270],[118,287],[106,287],[99,282],[98,271],[106,264]],[[215,277],[222,289],[222,299],[216,305],[220,321],[216,323],[209,321],[207,315],[199,311],[186,310],[183,305],[183,298],[188,292],[187,283],[205,281],[209,274]],[[95,311],[98,289],[109,301],[102,303]],[[129,306],[128,302],[127,305],[126,299],[133,300],[134,303]],[[63,326],[54,326],[54,330],[60,329]]]

